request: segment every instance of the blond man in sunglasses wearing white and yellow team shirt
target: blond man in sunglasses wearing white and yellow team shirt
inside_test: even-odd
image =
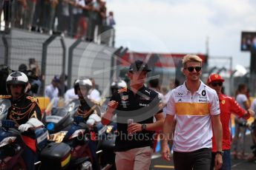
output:
[[[173,89],[167,103],[166,118],[163,126],[163,158],[170,160],[168,140],[171,138],[171,126],[176,115],[174,132],[175,169],[210,169],[211,137],[217,142],[215,167],[222,166],[222,126],[220,105],[217,93],[200,81],[202,59],[197,55],[183,58],[183,74],[186,81]]]

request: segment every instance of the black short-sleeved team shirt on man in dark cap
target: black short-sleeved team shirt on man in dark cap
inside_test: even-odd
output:
[[[157,92],[142,86],[136,94],[129,88],[119,89],[110,101],[117,101],[115,110],[118,135],[116,137],[116,152],[129,149],[153,146],[154,132],[143,131],[128,135],[127,121],[134,119],[134,123],[153,123],[154,115],[163,112],[162,102]]]

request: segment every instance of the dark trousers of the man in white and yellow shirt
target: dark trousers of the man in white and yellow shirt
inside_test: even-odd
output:
[[[211,149],[199,149],[194,152],[174,152],[176,170],[207,170],[211,167]]]

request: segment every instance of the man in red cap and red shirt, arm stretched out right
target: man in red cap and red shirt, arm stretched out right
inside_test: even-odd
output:
[[[229,123],[231,114],[234,113],[239,118],[249,119],[250,116],[254,116],[255,112],[252,109],[248,109],[247,112],[242,109],[234,98],[227,95],[223,95],[221,89],[223,88],[224,79],[217,74],[211,74],[207,79],[207,84],[217,92],[220,100],[220,121],[223,127],[223,153],[218,153],[216,149],[216,142],[214,137],[212,139],[212,155],[211,155],[211,169],[214,169],[214,158],[216,154],[223,154],[223,166],[221,169],[230,170],[231,169],[231,157],[230,148],[232,142],[231,132],[229,130]]]

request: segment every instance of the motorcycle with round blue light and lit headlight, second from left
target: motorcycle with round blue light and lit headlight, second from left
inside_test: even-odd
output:
[[[88,126],[79,118],[71,118],[66,108],[53,108],[45,117],[50,141],[67,143],[71,148],[69,169],[92,169],[91,150],[88,147]]]

